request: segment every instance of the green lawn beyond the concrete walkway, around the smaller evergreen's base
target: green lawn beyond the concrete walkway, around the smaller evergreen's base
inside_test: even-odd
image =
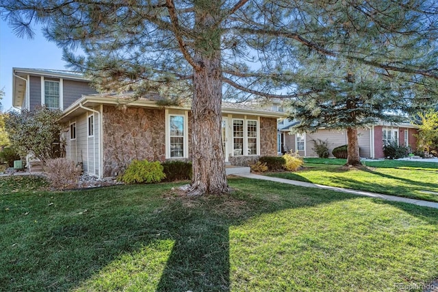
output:
[[[438,166],[430,162],[365,162],[368,169],[344,169],[344,159],[305,158],[305,169],[268,173],[277,178],[352,188],[438,202]]]

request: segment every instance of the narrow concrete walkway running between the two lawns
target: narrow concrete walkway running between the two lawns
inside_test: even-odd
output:
[[[234,173],[233,175],[242,178],[253,178],[255,180],[269,180],[271,182],[281,182],[283,184],[294,184],[295,186],[304,186],[306,188],[323,188],[325,190],[337,191],[342,193],[349,193],[352,195],[361,195],[365,197],[376,197],[378,199],[385,199],[387,201],[403,202],[414,204],[417,206],[424,206],[438,209],[438,203],[423,201],[421,199],[409,199],[407,197],[397,197],[395,195],[383,195],[379,193],[371,193],[365,191],[356,191],[350,188],[337,188],[336,186],[324,186],[322,184],[313,184],[312,182],[299,182],[298,180],[286,180],[285,178],[271,178],[270,176],[258,175],[254,173]]]

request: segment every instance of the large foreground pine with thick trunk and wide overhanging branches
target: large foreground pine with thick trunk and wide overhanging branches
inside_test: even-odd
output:
[[[0,9],[18,35],[31,35],[33,20],[43,22],[47,38],[99,90],[190,93],[193,194],[229,190],[220,137],[222,93],[238,99],[318,92],[298,84],[307,66],[303,51],[383,73],[437,78],[436,58],[429,58],[436,57],[429,44],[438,32],[435,1],[3,0]],[[347,34],[367,36],[365,45]],[[427,58],[411,63],[394,55],[391,46],[405,35],[423,40]],[[386,38],[387,51],[373,54],[376,40]],[[75,56],[77,47],[85,56]]]

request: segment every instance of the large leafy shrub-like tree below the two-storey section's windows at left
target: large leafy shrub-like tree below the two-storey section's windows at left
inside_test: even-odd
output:
[[[49,110],[45,106],[29,112],[8,112],[5,128],[10,143],[21,157],[33,154],[45,165],[47,160],[62,156],[64,143],[61,141],[63,126],[62,112]]]

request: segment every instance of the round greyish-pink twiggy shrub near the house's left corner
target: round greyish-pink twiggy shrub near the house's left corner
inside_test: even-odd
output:
[[[44,165],[44,172],[51,186],[57,189],[76,187],[81,171],[76,162],[66,158],[49,159]]]

